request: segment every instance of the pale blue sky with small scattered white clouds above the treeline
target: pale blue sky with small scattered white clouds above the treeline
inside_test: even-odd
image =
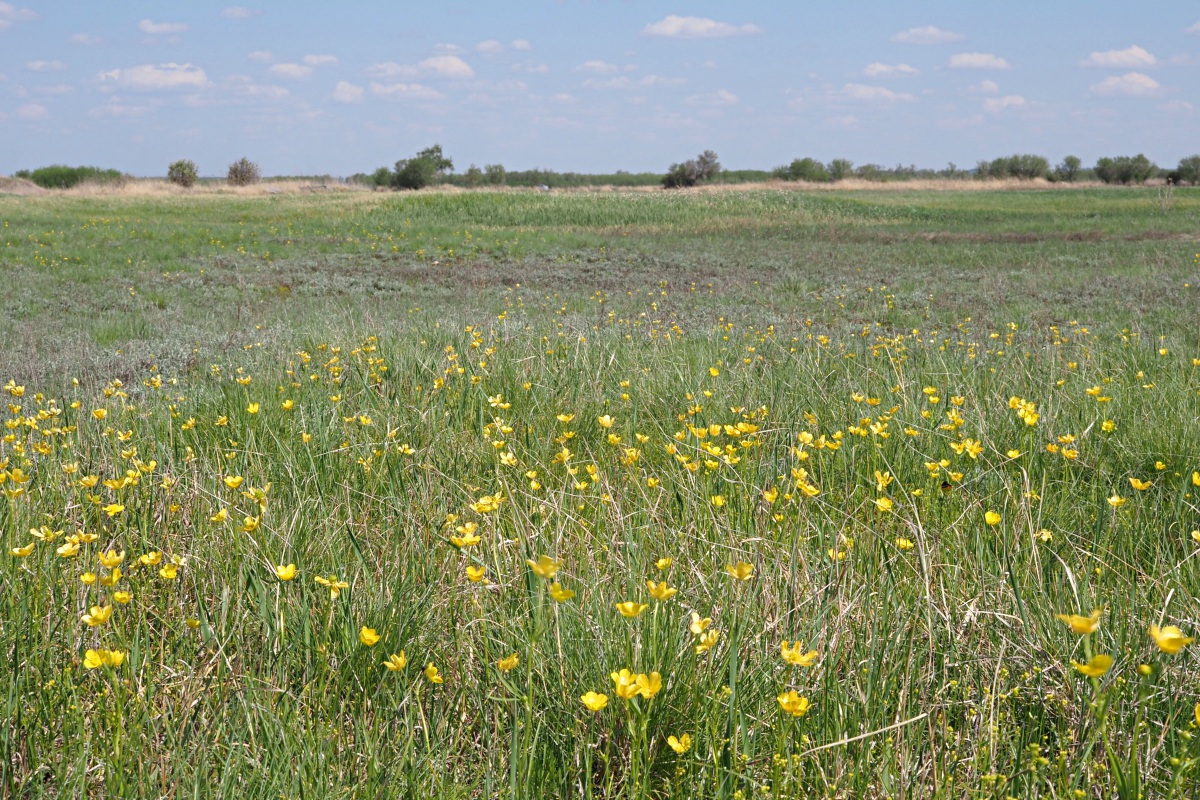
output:
[[[1190,1],[247,2],[0,1],[0,174],[1200,151]]]

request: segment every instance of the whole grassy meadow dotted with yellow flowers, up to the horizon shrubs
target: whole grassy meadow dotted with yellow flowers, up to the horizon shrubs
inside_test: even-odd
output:
[[[1198,231],[0,196],[0,796],[1195,798]]]

